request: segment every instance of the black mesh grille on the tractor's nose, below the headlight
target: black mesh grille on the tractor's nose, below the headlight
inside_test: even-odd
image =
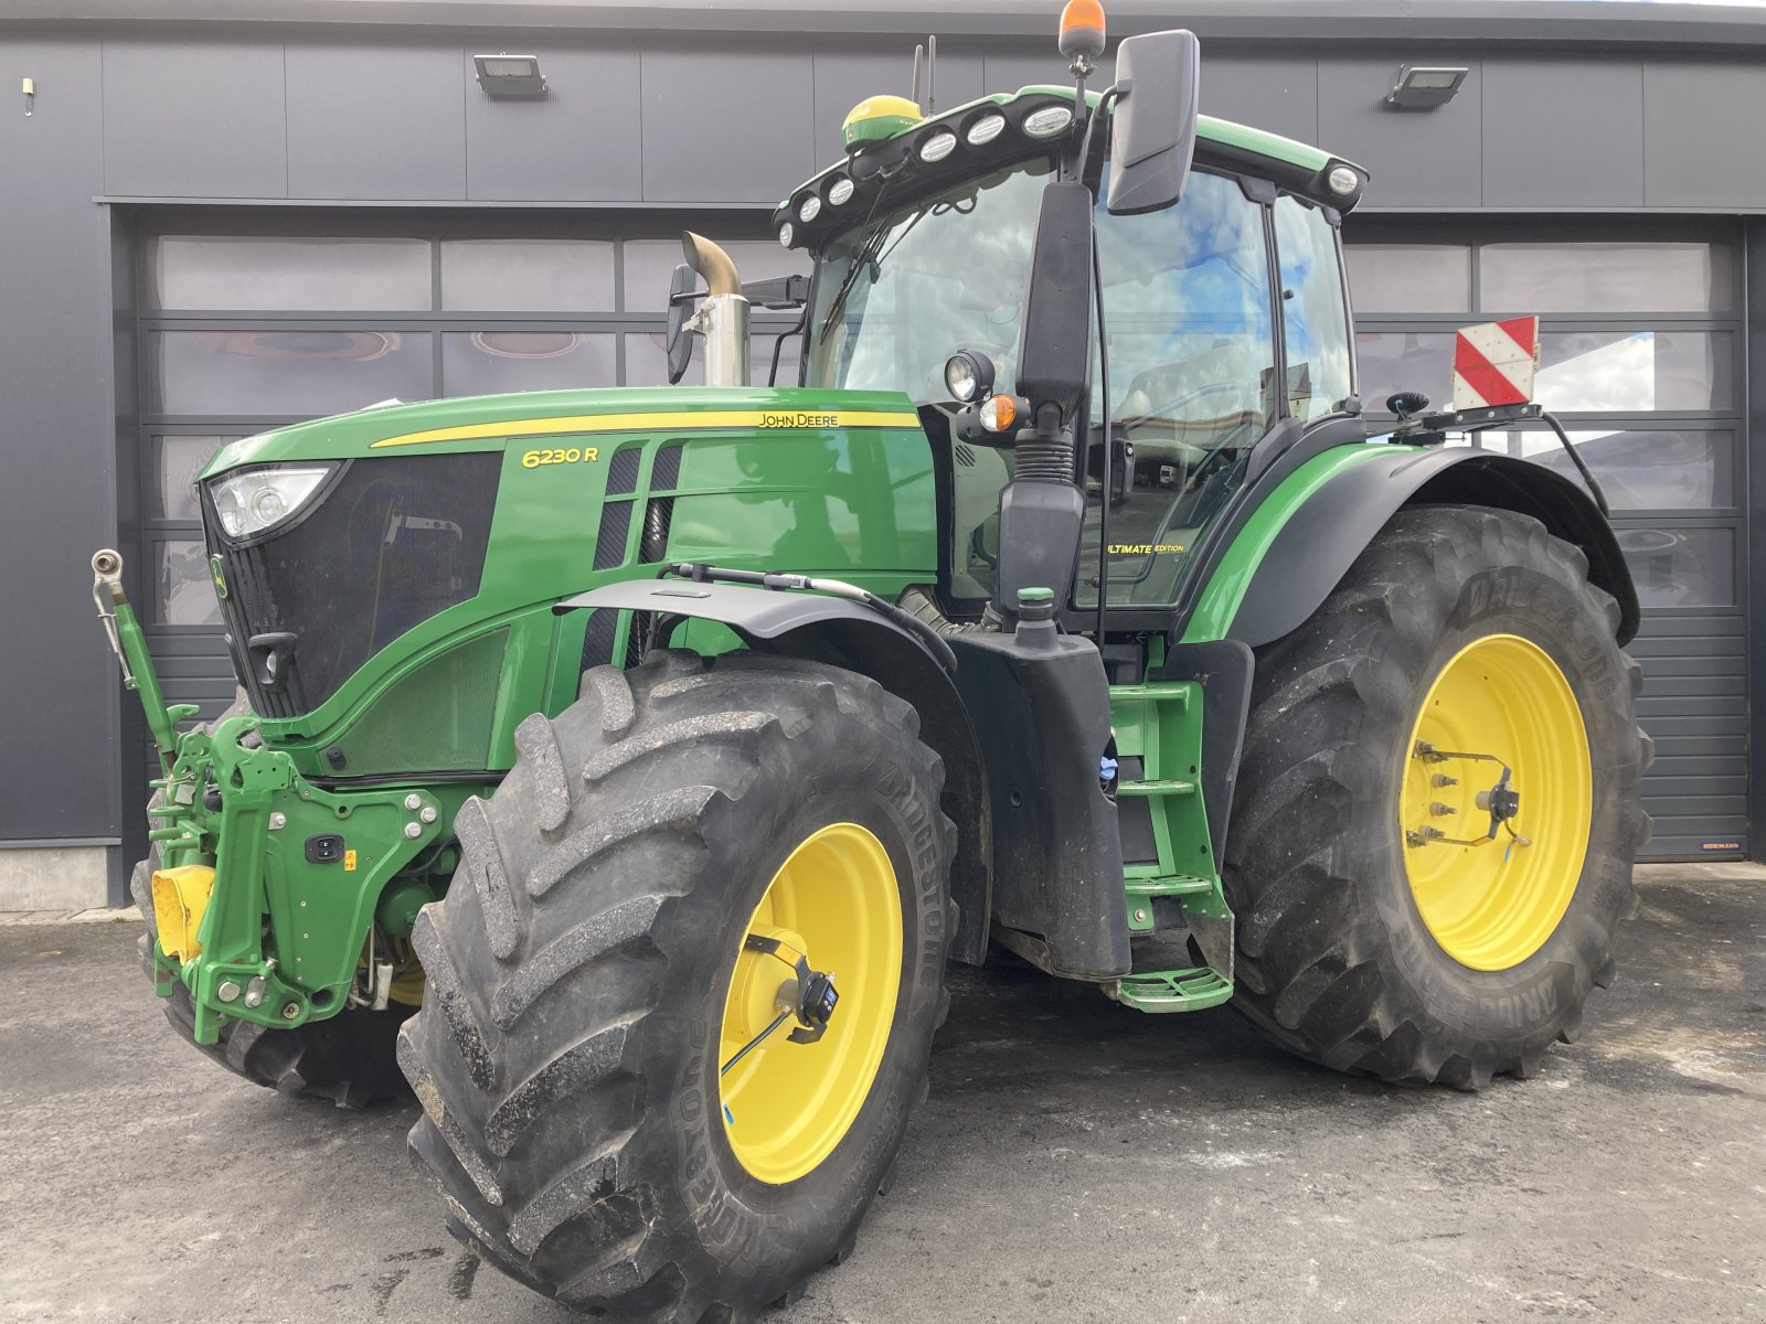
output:
[[[496,452],[350,461],[293,524],[244,547],[221,533],[205,493],[208,545],[226,572],[221,609],[253,708],[313,711],[389,643],[477,595],[500,468]],[[251,653],[267,634],[293,636],[277,683]]]

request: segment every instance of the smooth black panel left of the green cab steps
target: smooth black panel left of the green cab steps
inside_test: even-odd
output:
[[[955,634],[957,690],[992,794],[992,918],[1001,939],[1054,974],[1128,973],[1116,805],[1098,759],[1109,685],[1090,639],[1024,648],[1012,634]]]

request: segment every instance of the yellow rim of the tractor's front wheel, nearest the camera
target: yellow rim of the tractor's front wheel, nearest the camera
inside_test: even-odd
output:
[[[839,1004],[814,1043],[793,1043],[786,1019],[721,1077],[724,1133],[736,1160],[774,1185],[816,1169],[851,1128],[876,1080],[901,989],[901,891],[888,851],[857,823],[804,839],[766,884],[736,943],[724,997],[719,1066],[731,1063],[779,1017],[779,990],[795,978],[779,955],[747,948],[749,936],[800,952],[832,973]]]

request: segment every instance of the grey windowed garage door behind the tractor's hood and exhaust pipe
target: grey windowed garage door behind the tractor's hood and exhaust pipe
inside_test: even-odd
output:
[[[765,233],[754,215],[694,222],[713,235]],[[140,420],[124,457],[138,475],[131,590],[166,699],[205,715],[233,697],[191,485],[219,445],[392,397],[666,383],[664,311],[680,261],[680,228],[666,221],[634,219],[623,233],[595,215],[200,214],[140,224]],[[611,237],[583,238],[597,231]],[[726,247],[747,279],[804,270],[800,254],[770,238]],[[754,325],[752,372],[765,381],[765,332],[781,330],[781,318],[756,314]],[[795,342],[779,372],[796,378]],[[698,364],[687,381],[703,381]]]

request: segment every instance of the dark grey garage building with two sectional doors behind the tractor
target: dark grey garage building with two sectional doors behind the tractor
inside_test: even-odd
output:
[[[768,215],[837,159],[853,102],[909,92],[927,34],[940,108],[1065,81],[1056,12],[11,0],[0,909],[122,904],[145,847],[147,745],[92,618],[94,549],[129,560],[168,699],[217,711],[233,678],[191,477],[219,443],[390,397],[664,381],[683,228],[745,277],[800,270]],[[1400,387],[1445,399],[1455,327],[1542,314],[1540,401],[1602,478],[1644,607],[1646,858],[1762,858],[1766,11],[1109,18],[1113,39],[1194,28],[1206,113],[1370,171],[1344,228],[1370,411]],[[544,95],[491,95],[475,56],[496,53],[537,56]],[[1452,95],[1392,104],[1418,67],[1455,71]],[[1566,464],[1545,431],[1480,443]]]

